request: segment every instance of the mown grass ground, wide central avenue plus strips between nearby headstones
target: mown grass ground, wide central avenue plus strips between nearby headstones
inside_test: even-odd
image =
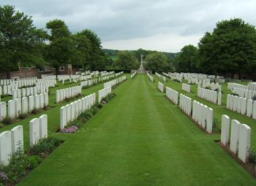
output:
[[[169,80],[165,85],[181,91],[181,83]],[[83,94],[101,88],[102,84],[95,85]],[[195,97],[194,87],[192,91],[189,96],[200,99]],[[55,133],[59,109],[67,103],[40,113],[48,115],[49,136],[64,143],[18,185],[256,185],[256,180],[214,142],[220,139],[219,134],[206,135],[197,128],[157,90],[157,81],[136,75],[113,92],[117,96],[78,133]],[[227,114],[250,125],[255,142],[252,119],[229,112],[224,105],[211,106],[214,115]],[[1,131],[23,125],[26,148],[29,120],[31,117]]]

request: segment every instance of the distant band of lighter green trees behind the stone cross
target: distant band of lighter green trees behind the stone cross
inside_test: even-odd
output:
[[[106,51],[106,50],[105,50]],[[110,60],[108,64],[113,69],[132,70],[140,67],[140,55],[143,55],[143,66],[152,71],[173,71],[175,53],[162,53],[153,50],[120,50],[118,52],[107,50],[108,54],[116,53],[116,61]]]

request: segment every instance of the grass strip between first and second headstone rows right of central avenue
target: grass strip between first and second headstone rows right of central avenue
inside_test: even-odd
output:
[[[192,85],[191,87],[192,93],[187,93],[184,90],[182,90],[181,88],[182,86],[180,82],[175,82],[173,80],[170,80],[169,78],[167,78],[167,82],[163,82],[157,76],[153,75],[153,77],[154,77],[154,84],[156,86],[157,86],[157,83],[160,81],[165,86],[169,88],[173,88],[179,93],[189,96],[189,98],[192,98],[192,100],[200,101],[200,103],[210,106],[212,109],[214,109],[214,118],[219,120],[219,128],[221,128],[222,115],[228,115],[231,120],[235,119],[235,120],[238,120],[240,123],[245,123],[246,125],[249,125],[249,127],[252,128],[251,144],[256,145],[256,120],[253,120],[252,117],[246,117],[244,115],[238,114],[237,112],[233,112],[229,109],[226,109],[227,94],[231,93],[231,91],[227,89],[227,83],[221,84],[222,91],[223,91],[222,105],[219,106],[217,104],[212,104],[211,102],[206,101],[203,98],[197,97],[197,85]],[[247,85],[246,82],[238,82],[238,83]]]

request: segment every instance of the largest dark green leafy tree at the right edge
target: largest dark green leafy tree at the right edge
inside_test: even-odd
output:
[[[239,18],[217,23],[199,43],[200,69],[205,73],[245,74],[256,67],[255,26]]]

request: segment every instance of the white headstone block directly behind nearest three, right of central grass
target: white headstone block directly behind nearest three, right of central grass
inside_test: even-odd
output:
[[[194,100],[192,106],[192,119],[202,128],[205,128],[208,133],[212,133],[214,120],[213,109]]]

